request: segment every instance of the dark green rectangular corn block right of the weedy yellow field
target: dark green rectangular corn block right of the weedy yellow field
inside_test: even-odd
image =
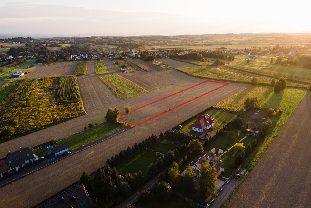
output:
[[[81,102],[77,76],[61,76],[57,89],[58,103],[77,103]]]

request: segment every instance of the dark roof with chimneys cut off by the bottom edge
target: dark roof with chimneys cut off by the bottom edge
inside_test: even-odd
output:
[[[44,208],[49,207],[58,207],[58,208],[67,208],[67,207],[83,207],[91,208],[94,207],[94,204],[89,196],[89,193],[86,191],[86,188],[83,184],[76,185],[72,189],[64,191],[59,196],[54,197],[48,203],[44,205]]]

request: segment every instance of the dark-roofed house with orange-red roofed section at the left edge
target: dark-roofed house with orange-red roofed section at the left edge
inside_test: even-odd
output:
[[[10,173],[17,172],[27,163],[34,162],[35,156],[29,147],[20,148],[15,152],[9,152],[5,158],[0,160],[0,177],[6,177]]]

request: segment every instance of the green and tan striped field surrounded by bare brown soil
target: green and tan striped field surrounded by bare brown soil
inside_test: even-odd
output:
[[[148,92],[146,89],[120,75],[104,75],[100,76],[100,79],[120,100]]]

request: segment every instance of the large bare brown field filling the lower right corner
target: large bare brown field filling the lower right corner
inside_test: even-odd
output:
[[[228,207],[309,207],[311,204],[311,93],[240,186]]]

